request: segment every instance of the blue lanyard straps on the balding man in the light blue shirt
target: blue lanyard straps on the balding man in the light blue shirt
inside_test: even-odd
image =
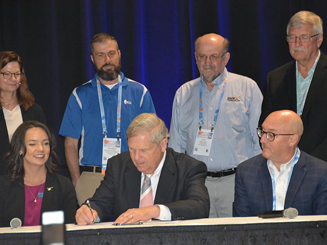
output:
[[[222,102],[222,99],[223,99],[223,96],[225,93],[226,83],[227,83],[227,77],[225,77],[223,79],[222,90],[221,90],[219,100],[218,100],[218,103],[216,106],[214,120],[211,125],[211,131],[214,130],[214,128],[216,127],[216,124],[217,124],[219,109],[220,109],[220,105],[221,105],[221,102]],[[202,125],[203,125],[203,86],[204,86],[203,75],[201,75],[201,77],[200,77],[200,104],[199,104],[199,130],[201,130]]]

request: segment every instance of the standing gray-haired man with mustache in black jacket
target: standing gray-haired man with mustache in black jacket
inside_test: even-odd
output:
[[[259,125],[277,110],[296,112],[304,133],[299,148],[327,160],[327,57],[319,50],[322,20],[309,11],[296,13],[288,22],[286,40],[293,61],[269,72]]]

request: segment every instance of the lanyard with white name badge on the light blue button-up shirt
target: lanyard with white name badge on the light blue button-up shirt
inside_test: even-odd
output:
[[[203,81],[203,75],[201,75],[201,81],[200,81],[200,103],[199,103],[199,129],[197,131],[196,139],[195,139],[195,144],[194,144],[194,149],[193,149],[193,154],[194,155],[200,155],[200,156],[209,156],[210,150],[211,150],[211,145],[213,142],[213,137],[214,137],[214,129],[217,124],[217,118],[219,115],[219,109],[221,105],[221,101],[223,99],[223,95],[225,92],[225,87],[227,83],[227,78],[225,77],[223,79],[223,84],[222,84],[222,91],[219,96],[219,100],[216,106],[216,111],[215,111],[215,116],[213,123],[211,125],[211,129],[202,129],[203,125],[203,86],[204,86],[204,81]]]

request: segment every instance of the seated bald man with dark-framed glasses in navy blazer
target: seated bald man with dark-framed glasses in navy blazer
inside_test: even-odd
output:
[[[301,118],[290,110],[272,112],[257,133],[262,154],[237,168],[233,216],[289,207],[299,215],[326,215],[327,163],[298,148]]]

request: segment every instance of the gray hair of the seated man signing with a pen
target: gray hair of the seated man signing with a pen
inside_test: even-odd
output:
[[[160,145],[163,139],[169,137],[165,122],[154,113],[142,113],[136,116],[126,131],[127,139],[150,132],[150,140],[156,145]]]

